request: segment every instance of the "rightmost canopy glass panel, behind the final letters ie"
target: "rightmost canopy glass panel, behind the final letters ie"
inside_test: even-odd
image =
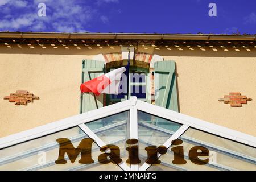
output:
[[[172,163],[174,152],[171,151],[171,148],[176,146],[171,146],[167,154],[160,156],[159,159],[163,163],[186,170],[256,170],[256,150],[254,147],[193,128],[185,131],[179,139],[183,142],[179,146],[184,147],[184,159],[187,163]],[[209,156],[199,156],[202,160],[209,159],[207,164],[195,164],[189,159],[189,151],[195,146],[203,146],[209,150]],[[201,152],[201,150],[199,149],[197,152]]]

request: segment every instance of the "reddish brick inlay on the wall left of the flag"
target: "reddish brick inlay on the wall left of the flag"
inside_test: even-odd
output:
[[[33,102],[34,99],[39,100],[39,97],[28,93],[26,90],[17,90],[16,93],[11,93],[10,96],[5,96],[3,99],[15,102],[15,105],[27,105],[28,102]]]

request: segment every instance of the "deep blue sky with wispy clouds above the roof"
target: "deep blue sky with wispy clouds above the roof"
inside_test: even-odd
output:
[[[0,31],[256,34],[256,0],[0,0],[0,17]]]

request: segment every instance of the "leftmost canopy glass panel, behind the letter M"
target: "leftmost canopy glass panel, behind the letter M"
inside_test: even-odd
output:
[[[100,148],[92,143],[91,164],[80,164],[81,154],[74,163],[65,153],[66,164],[56,164],[59,156],[58,138],[68,138],[76,148],[82,139],[88,138],[79,127],[59,131],[28,142],[16,144],[0,150],[0,170],[121,170],[117,165],[109,163],[100,165],[98,155],[102,154]],[[109,166],[109,167],[108,167]]]

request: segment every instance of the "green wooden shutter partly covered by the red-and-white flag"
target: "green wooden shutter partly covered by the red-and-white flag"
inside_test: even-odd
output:
[[[104,62],[97,60],[83,60],[82,83],[104,74],[104,71]],[[103,94],[100,94],[100,96],[96,96],[93,93],[84,93],[81,95],[80,113],[85,113],[87,111],[103,107],[103,102]]]

